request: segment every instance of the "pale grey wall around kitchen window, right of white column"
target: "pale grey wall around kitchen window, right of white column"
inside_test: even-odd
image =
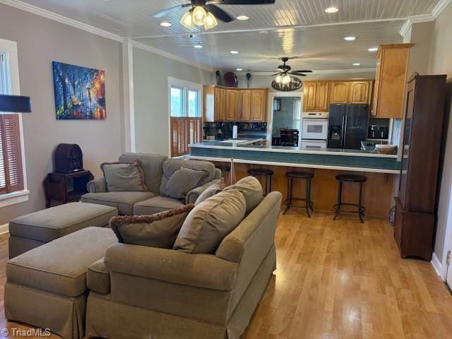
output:
[[[208,85],[212,73],[133,48],[136,151],[169,155],[168,77]]]

